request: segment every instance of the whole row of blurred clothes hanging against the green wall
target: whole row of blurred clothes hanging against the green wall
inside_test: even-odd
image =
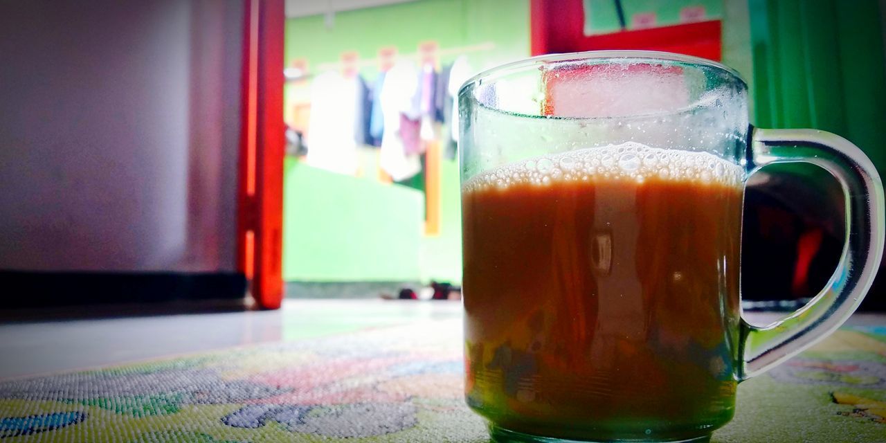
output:
[[[401,182],[421,171],[418,156],[428,142],[439,140],[446,158],[455,159],[455,95],[469,76],[464,57],[441,66],[439,72],[430,63],[416,66],[401,60],[379,73],[371,87],[361,75],[344,77],[330,72],[316,76],[311,89],[307,163],[354,174],[357,147],[375,146],[380,149],[380,167],[394,182]]]

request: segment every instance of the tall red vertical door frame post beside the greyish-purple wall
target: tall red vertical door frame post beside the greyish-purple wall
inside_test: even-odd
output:
[[[256,305],[276,309],[284,296],[284,0],[244,6],[237,269]]]

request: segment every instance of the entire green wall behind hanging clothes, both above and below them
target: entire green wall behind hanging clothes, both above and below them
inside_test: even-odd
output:
[[[344,51],[375,58],[380,48],[415,53],[492,43],[467,55],[475,70],[529,56],[528,0],[420,0],[286,21],[285,63],[308,69],[338,62]],[[447,63],[457,54],[441,52]],[[375,65],[361,74],[372,79]],[[289,89],[289,86],[287,86]],[[287,90],[284,97],[291,98]],[[284,279],[308,282],[461,283],[458,164],[440,160],[440,229],[424,235],[424,194],[372,179],[331,174],[287,159],[284,170]]]

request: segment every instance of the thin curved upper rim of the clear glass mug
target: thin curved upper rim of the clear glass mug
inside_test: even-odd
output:
[[[742,78],[742,74],[738,74],[738,71],[735,71],[733,68],[723,65],[722,63],[710,60],[708,58],[701,58],[695,56],[689,56],[685,54],[678,54],[675,52],[665,52],[665,51],[635,51],[635,50],[615,50],[615,51],[583,51],[583,52],[563,52],[563,53],[554,53],[554,54],[542,54],[535,57],[523,58],[517,61],[512,61],[506,63],[504,65],[495,66],[485,71],[482,71],[474,76],[470,77],[466,82],[462,83],[462,86],[458,89],[458,97],[462,96],[462,92],[470,87],[471,85],[479,83],[481,80],[487,79],[489,77],[501,77],[502,74],[510,74],[512,72],[524,71],[526,68],[537,66],[540,63],[563,63],[563,62],[580,62],[583,60],[594,60],[594,59],[619,59],[619,58],[629,58],[629,59],[641,59],[641,60],[657,60],[657,61],[666,61],[666,62],[678,62],[684,63],[688,65],[695,66],[709,66],[717,68],[721,71],[726,72],[727,74],[732,75],[735,80],[742,83],[745,89],[748,89],[748,82]]]

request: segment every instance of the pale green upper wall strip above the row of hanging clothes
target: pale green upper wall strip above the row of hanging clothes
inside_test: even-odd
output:
[[[345,51],[375,58],[383,47],[415,53],[418,43],[436,41],[441,50],[494,43],[490,51],[468,54],[477,68],[529,55],[528,0],[420,0],[357,11],[338,12],[327,27],[322,15],[286,20],[284,62],[306,58],[314,68],[334,63]],[[447,63],[457,54],[440,58]],[[376,66],[365,68],[368,77]]]

